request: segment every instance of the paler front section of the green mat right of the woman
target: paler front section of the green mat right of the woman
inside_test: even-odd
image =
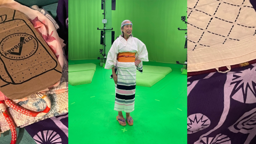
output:
[[[163,74],[154,74],[154,73],[143,73],[137,72],[136,74],[136,85],[138,86],[146,86],[151,87],[161,79],[163,79],[165,75]]]

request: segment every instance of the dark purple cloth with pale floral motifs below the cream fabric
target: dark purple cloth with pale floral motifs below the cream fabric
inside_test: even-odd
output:
[[[256,143],[256,64],[188,77],[189,144]]]

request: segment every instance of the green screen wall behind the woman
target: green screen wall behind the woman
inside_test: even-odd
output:
[[[106,10],[106,15],[110,10]],[[100,30],[97,28],[103,28],[102,13],[100,0],[69,1],[69,60],[101,57]],[[118,0],[116,10],[109,13],[115,39],[121,34],[121,22],[132,21],[132,34],[146,44],[149,61],[176,63],[186,60],[186,31],[178,30],[178,27],[187,28],[181,21],[181,16],[187,15],[186,0]],[[106,54],[108,49],[107,46]]]

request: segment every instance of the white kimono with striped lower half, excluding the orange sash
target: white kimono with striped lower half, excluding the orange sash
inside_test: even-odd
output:
[[[140,64],[136,67],[134,62],[118,62],[117,54],[121,52],[134,52],[135,60],[141,60]],[[146,45],[138,38],[130,36],[126,41],[122,36],[119,36],[111,46],[105,68],[115,67],[117,69],[114,110],[125,111],[125,113],[134,110],[136,71],[138,69],[142,73],[142,61],[148,61],[148,51]]]

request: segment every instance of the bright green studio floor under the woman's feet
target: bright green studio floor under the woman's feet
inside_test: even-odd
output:
[[[182,65],[143,62],[173,71],[152,87],[136,86],[134,124],[121,126],[111,70],[100,67],[99,60],[69,62],[97,65],[91,84],[69,85],[69,143],[187,143],[187,75],[181,74]]]

